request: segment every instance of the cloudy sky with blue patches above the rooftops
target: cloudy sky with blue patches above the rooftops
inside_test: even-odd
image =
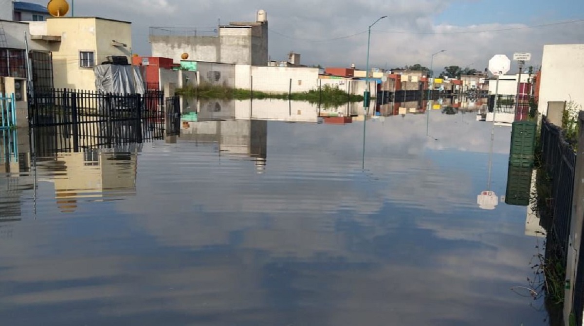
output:
[[[370,45],[371,66],[378,68],[430,66],[440,50],[446,51],[434,56],[437,67],[484,70],[493,55],[513,52],[531,52],[528,66],[537,67],[544,44],[584,43],[584,21],[565,23],[584,19],[581,0],[75,1],[76,16],[132,22],[134,52],[141,55],[150,54],[150,26],[253,21],[257,9],[267,12],[270,57],[285,60],[296,51],[308,65],[364,67],[367,27],[381,16],[388,18],[372,27]]]

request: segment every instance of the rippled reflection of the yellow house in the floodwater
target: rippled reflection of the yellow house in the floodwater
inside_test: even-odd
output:
[[[135,194],[136,152],[61,153],[55,164],[64,167],[64,173],[53,180],[57,205],[63,212],[75,211],[79,198]]]

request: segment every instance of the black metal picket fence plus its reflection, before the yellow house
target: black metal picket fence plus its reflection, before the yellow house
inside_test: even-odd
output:
[[[178,97],[165,99],[159,91],[141,95],[37,89],[29,101],[29,125],[35,147],[43,153],[142,143],[178,135],[178,102]]]

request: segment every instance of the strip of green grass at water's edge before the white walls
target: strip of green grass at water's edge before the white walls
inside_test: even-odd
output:
[[[249,99],[278,99],[278,100],[293,100],[293,101],[308,101],[310,103],[322,103],[325,106],[339,106],[347,102],[363,101],[363,96],[347,94],[344,90],[330,85],[324,85],[320,90],[312,89],[308,92],[296,93],[267,93],[259,91],[251,91],[247,89],[233,89],[221,85],[211,85],[209,83],[201,83],[199,87],[187,85],[176,90],[176,94],[186,97],[198,97],[200,99],[234,99],[234,100],[249,100]]]

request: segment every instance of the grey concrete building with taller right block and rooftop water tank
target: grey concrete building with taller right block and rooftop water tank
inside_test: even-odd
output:
[[[256,12],[255,22],[232,22],[208,29],[150,27],[153,57],[266,66],[267,18]],[[183,57],[187,55],[187,58]]]

